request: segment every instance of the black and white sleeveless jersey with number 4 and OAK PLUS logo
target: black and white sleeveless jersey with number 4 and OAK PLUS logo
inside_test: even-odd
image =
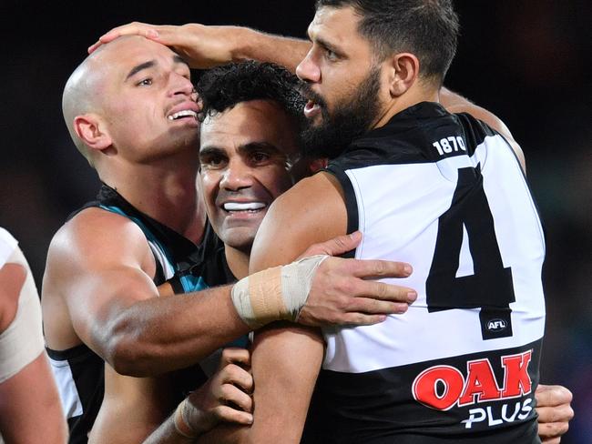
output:
[[[324,328],[303,442],[540,442],[543,228],[511,146],[483,122],[412,106],[328,166],[355,257],[413,265],[403,315]]]

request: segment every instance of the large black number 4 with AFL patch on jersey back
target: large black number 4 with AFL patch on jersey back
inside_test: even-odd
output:
[[[474,274],[457,278],[463,226],[468,235]],[[438,220],[426,296],[430,312],[481,308],[479,317],[484,339],[512,336],[509,307],[515,301],[512,269],[504,267],[502,262],[479,166],[458,170],[452,205]]]

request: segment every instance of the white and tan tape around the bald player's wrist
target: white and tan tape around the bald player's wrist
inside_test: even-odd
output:
[[[231,292],[240,318],[253,329],[275,320],[295,321],[309,297],[316,269],[327,257],[304,257],[240,279]]]

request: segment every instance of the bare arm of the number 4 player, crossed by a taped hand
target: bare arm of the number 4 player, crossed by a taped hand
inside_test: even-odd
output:
[[[306,246],[343,234],[346,227],[341,194],[328,175],[305,179],[270,207],[251,252],[250,272],[289,263]],[[203,442],[300,442],[322,355],[316,329],[275,324],[259,330],[251,358],[253,425],[214,429]]]

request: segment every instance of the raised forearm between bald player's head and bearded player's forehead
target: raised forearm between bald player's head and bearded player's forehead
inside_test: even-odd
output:
[[[308,40],[265,34],[250,28],[237,28],[237,37],[233,61],[272,62],[285,66],[292,73],[311,48]]]

